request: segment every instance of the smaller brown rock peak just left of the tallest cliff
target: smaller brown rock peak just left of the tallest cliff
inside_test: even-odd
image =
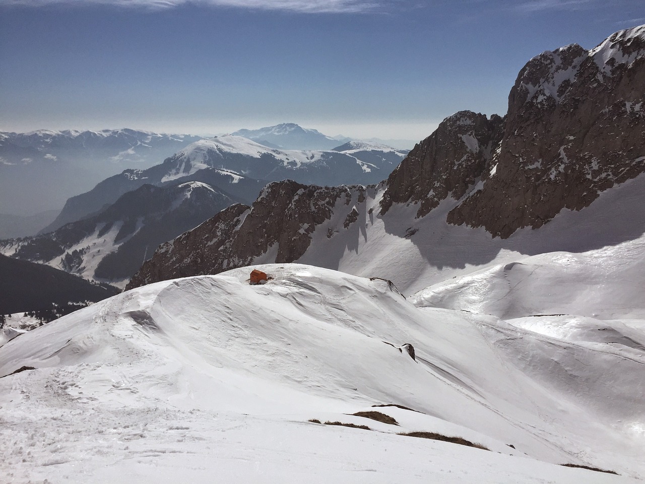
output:
[[[503,128],[501,117],[471,111],[444,119],[388,177],[381,214],[392,203],[419,202],[417,217],[422,217],[446,197],[461,198],[490,166]]]

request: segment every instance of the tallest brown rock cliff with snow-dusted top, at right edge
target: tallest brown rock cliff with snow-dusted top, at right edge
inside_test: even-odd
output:
[[[570,45],[531,59],[509,96],[494,174],[448,222],[509,237],[644,172],[644,32],[639,26],[590,51]]]

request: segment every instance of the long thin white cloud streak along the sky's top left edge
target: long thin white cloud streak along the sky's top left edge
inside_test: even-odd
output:
[[[281,10],[303,14],[375,12],[390,2],[379,0],[0,0],[5,6],[112,5],[121,8],[166,10],[182,5],[220,6],[246,10]]]

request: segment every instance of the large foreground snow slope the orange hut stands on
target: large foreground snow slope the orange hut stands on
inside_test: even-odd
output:
[[[0,375],[37,369],[0,378],[0,469],[16,483],[645,476],[642,350],[416,308],[381,279],[258,268],[268,283],[249,285],[251,268],[164,281],[6,343]],[[364,410],[400,425],[348,415]],[[410,431],[491,452],[397,435]]]

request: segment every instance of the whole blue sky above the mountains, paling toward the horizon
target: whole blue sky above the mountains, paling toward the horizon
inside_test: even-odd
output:
[[[418,140],[457,110],[504,114],[534,55],[644,17],[645,0],[0,0],[0,130]]]

